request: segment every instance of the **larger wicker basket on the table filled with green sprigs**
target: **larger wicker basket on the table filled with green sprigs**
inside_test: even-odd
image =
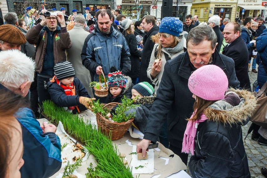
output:
[[[109,110],[111,110],[117,104],[120,103],[117,102],[108,103],[103,108],[107,107]],[[97,127],[103,134],[109,135],[109,133],[111,133],[111,140],[118,140],[123,138],[127,129],[130,127],[131,123],[134,120],[134,118],[132,118],[127,122],[116,123],[106,119],[101,115],[101,113],[96,114],[96,119],[97,119]]]

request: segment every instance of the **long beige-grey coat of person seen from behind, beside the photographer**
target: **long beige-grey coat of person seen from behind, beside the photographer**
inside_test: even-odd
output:
[[[81,25],[74,25],[73,29],[68,31],[71,38],[71,48],[66,50],[67,61],[69,61],[75,71],[75,76],[84,85],[90,97],[93,97],[92,88],[89,87],[91,83],[90,71],[81,63],[81,50],[86,37],[90,34],[85,31]]]

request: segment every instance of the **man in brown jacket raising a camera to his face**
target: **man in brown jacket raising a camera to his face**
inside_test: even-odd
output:
[[[55,64],[66,60],[65,50],[71,48],[71,39],[62,12],[43,9],[40,15],[41,22],[27,32],[26,39],[36,44],[37,91],[42,107],[43,101],[50,100],[47,82],[54,76]]]

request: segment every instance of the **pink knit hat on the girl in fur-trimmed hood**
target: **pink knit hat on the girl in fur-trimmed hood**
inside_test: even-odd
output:
[[[205,100],[221,100],[228,89],[228,79],[216,65],[204,65],[194,71],[188,80],[189,90]]]

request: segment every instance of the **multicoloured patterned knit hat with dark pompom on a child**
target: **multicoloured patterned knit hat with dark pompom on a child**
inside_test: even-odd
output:
[[[124,81],[124,76],[122,75],[121,71],[109,73],[107,77],[107,84],[109,88],[113,86],[125,88],[126,82]]]

